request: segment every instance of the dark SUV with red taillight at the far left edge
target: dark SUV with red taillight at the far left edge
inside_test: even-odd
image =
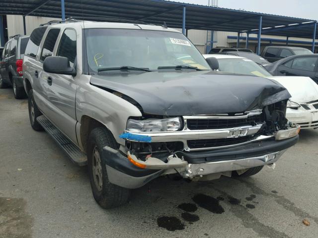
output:
[[[16,35],[5,44],[0,61],[0,88],[13,87],[16,99],[26,97],[22,81],[22,64],[29,36]]]

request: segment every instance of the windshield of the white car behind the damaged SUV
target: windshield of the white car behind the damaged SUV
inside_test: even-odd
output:
[[[218,59],[218,61],[219,71],[260,77],[272,76],[265,68],[249,59]]]

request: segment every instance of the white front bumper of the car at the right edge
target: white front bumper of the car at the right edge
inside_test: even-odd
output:
[[[310,107],[306,110],[303,107],[298,109],[288,108],[286,110],[286,118],[293,123],[299,124],[302,129],[318,128],[318,109]]]

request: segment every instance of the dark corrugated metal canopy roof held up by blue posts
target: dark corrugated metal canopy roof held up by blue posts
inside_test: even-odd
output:
[[[279,31],[272,31],[271,35],[304,38],[312,38],[313,36],[313,26],[311,24],[295,29],[291,29],[289,26],[290,24],[314,22],[310,19],[167,0],[65,0],[65,14],[66,17],[125,18],[160,25],[165,21],[168,27],[181,28],[183,6],[186,6],[186,29],[250,31],[258,28],[258,17],[262,16],[262,28],[278,25],[283,25],[286,28],[284,31],[282,30],[284,27]],[[0,14],[25,15],[28,13],[32,16],[61,18],[61,1],[1,0]]]

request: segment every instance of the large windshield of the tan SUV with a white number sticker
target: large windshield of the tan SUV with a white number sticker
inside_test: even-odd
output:
[[[159,70],[186,65],[211,70],[195,46],[181,33],[131,29],[86,29],[89,71],[129,66]],[[135,68],[135,70],[136,70]],[[178,69],[181,69],[180,67]],[[182,70],[190,67],[182,67]],[[193,70],[193,69],[192,69]]]

